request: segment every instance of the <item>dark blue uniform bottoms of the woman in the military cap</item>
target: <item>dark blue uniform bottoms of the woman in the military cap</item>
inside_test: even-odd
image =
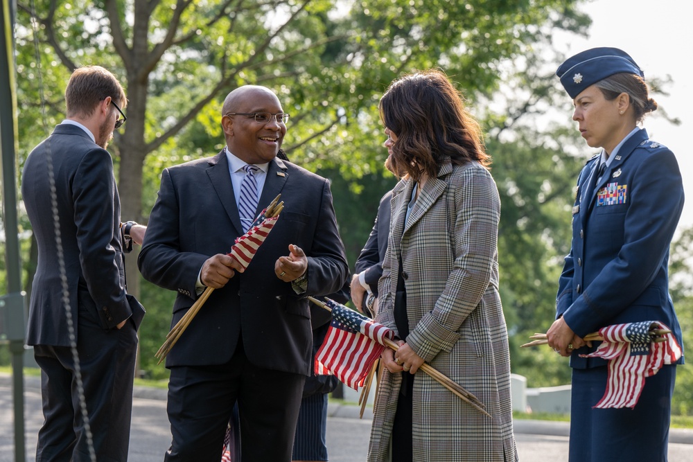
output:
[[[676,366],[647,377],[633,409],[592,409],[604,396],[607,372],[572,371],[570,462],[666,462]]]

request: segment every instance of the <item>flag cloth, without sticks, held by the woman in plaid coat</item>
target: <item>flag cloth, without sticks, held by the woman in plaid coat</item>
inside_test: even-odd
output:
[[[328,300],[332,322],[315,355],[315,373],[333,373],[353,389],[362,387],[373,362],[394,332],[340,303]]]

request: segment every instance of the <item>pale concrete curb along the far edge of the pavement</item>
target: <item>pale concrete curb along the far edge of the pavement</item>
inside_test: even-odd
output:
[[[0,373],[0,386],[12,387],[12,375]],[[24,388],[41,389],[41,378],[24,376]],[[154,387],[133,387],[132,396],[145,400],[161,400],[168,398],[168,390]],[[360,407],[356,405],[343,405],[338,402],[329,402],[327,405],[327,416],[333,418],[359,418]],[[369,422],[373,418],[373,408],[368,406],[363,411],[361,420]],[[513,420],[514,432],[516,434],[533,434],[545,436],[565,436],[570,435],[570,423],[553,422],[549,420]],[[669,429],[669,443],[693,445],[693,429],[672,428]]]

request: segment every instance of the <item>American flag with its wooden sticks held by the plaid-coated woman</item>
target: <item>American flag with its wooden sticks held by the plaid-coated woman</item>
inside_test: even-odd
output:
[[[356,389],[363,385],[366,375],[385,347],[395,351],[399,349],[399,345],[392,341],[394,337],[392,330],[385,326],[335,301],[328,299],[327,303],[323,303],[312,296],[308,299],[333,313],[333,320],[325,341],[315,355],[315,373],[324,373],[323,369],[327,369],[349,387]],[[375,351],[377,354],[374,354]],[[491,414],[484,410],[482,402],[459,384],[429,364],[423,363],[419,369],[482,414],[491,417]]]

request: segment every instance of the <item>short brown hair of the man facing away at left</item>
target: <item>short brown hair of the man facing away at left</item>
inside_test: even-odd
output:
[[[67,116],[89,117],[108,96],[121,109],[127,106],[125,91],[116,76],[101,66],[82,66],[70,76],[65,89]]]

